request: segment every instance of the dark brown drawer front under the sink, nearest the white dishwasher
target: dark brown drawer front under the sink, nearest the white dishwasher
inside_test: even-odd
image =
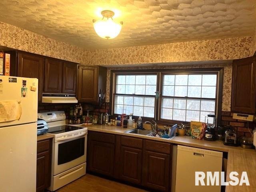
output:
[[[154,152],[170,154],[171,144],[151,140],[144,140],[144,149]]]

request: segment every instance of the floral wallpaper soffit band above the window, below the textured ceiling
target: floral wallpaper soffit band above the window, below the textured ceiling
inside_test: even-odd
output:
[[[232,60],[252,55],[252,37],[91,50],[94,65]]]

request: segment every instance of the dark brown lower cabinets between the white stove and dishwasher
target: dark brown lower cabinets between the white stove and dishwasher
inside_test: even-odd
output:
[[[148,189],[170,192],[172,144],[89,131],[87,167]]]

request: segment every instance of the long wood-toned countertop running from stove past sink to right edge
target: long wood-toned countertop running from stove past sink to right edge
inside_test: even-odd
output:
[[[243,171],[247,172],[250,186],[243,184],[242,186],[226,186],[226,192],[252,192],[256,191],[256,150],[255,149],[243,149],[241,147],[226,146],[222,141],[206,141],[192,139],[190,136],[175,136],[172,139],[156,138],[151,136],[144,136],[139,134],[125,133],[130,130],[129,128],[122,128],[119,126],[108,125],[84,125],[90,131],[98,131],[104,133],[120,134],[126,136],[133,136],[138,138],[158,140],[162,142],[168,142],[173,144],[179,144],[184,146],[203,148],[208,150],[216,150],[221,152],[228,152],[227,163],[227,180],[229,179],[229,173],[232,171],[238,172],[239,180]]]

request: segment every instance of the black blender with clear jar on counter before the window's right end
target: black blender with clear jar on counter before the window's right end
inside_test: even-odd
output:
[[[207,129],[204,134],[204,140],[207,141],[214,141],[215,140],[215,124],[216,124],[216,118],[214,114],[208,114],[205,117],[205,122]]]

